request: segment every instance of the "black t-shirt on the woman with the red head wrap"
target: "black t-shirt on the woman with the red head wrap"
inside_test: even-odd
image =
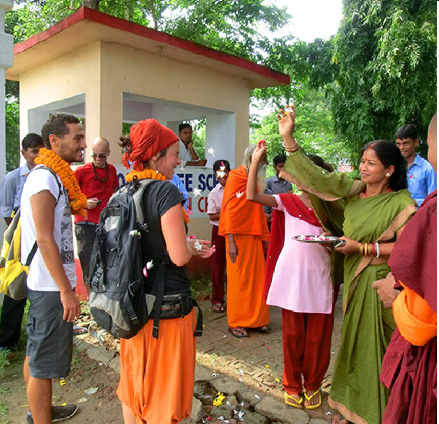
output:
[[[184,201],[180,191],[169,181],[154,181],[144,192],[142,204],[149,233],[146,237],[142,235],[141,238],[143,266],[147,266],[151,259],[153,265],[152,269],[148,269],[145,287],[147,293],[151,293],[159,266],[166,255],[166,244],[160,218],[175,205],[183,205]],[[189,277],[185,266],[176,266],[171,262],[166,269],[164,294],[177,293],[191,293]]]

